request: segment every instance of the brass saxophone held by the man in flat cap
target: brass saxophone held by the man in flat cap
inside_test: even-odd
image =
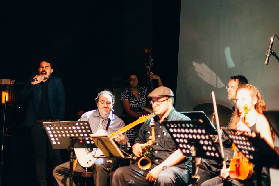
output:
[[[151,167],[151,160],[146,157],[151,153],[152,145],[155,143],[155,132],[154,132],[154,118],[151,118],[149,126],[151,127],[151,135],[149,136],[149,140],[142,147],[142,157],[137,160],[130,160],[130,164],[137,164],[140,169],[146,170]],[[134,154],[132,154],[134,156]]]

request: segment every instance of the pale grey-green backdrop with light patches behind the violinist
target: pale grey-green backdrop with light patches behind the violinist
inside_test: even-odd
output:
[[[268,109],[279,109],[279,62],[264,65],[270,37],[279,34],[278,1],[182,1],[176,109],[201,103],[232,107],[226,85],[244,75],[259,88]],[[279,40],[273,50],[279,52]]]

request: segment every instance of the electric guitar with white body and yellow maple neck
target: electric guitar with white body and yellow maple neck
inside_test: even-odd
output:
[[[127,130],[135,127],[136,125],[145,122],[148,118],[155,116],[154,114],[150,114],[147,116],[142,116],[140,118],[138,118],[136,121],[134,121],[133,123],[130,123],[129,125],[126,125],[125,127],[121,128],[120,131],[121,133],[126,132]],[[102,129],[98,130],[96,133],[100,133],[101,135],[101,131]],[[102,130],[104,131],[104,130]],[[95,133],[95,134],[96,134]],[[117,133],[114,132],[112,134],[109,135],[109,137],[114,138],[115,134]],[[92,148],[92,149],[88,149],[88,148],[75,148],[74,149],[75,154],[76,154],[76,158],[78,159],[78,163],[83,166],[83,167],[90,167],[93,165],[93,163],[95,162],[95,160],[98,156],[103,155],[103,152],[99,149],[99,148]]]

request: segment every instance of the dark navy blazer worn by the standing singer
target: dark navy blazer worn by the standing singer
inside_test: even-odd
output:
[[[29,76],[29,79],[32,79],[34,76]],[[49,109],[51,112],[52,119],[59,119],[63,121],[65,116],[65,92],[62,83],[62,79],[55,75],[51,75],[48,85],[48,97],[49,97]],[[26,111],[26,116],[24,119],[24,125],[30,127],[32,126],[37,119],[37,115],[40,108],[42,95],[42,85],[41,83],[32,85],[31,83],[26,84],[20,92],[21,98],[26,98],[31,96],[28,108]]]

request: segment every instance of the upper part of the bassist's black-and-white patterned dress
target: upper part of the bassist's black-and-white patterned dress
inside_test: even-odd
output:
[[[143,109],[140,108],[139,105],[146,107],[148,88],[146,86],[143,86],[137,87],[137,89],[139,91],[139,98],[136,98],[132,92],[132,89],[128,87],[121,92],[120,100],[128,100],[131,110],[141,115]],[[124,110],[122,112],[122,116],[127,116],[127,113]]]

